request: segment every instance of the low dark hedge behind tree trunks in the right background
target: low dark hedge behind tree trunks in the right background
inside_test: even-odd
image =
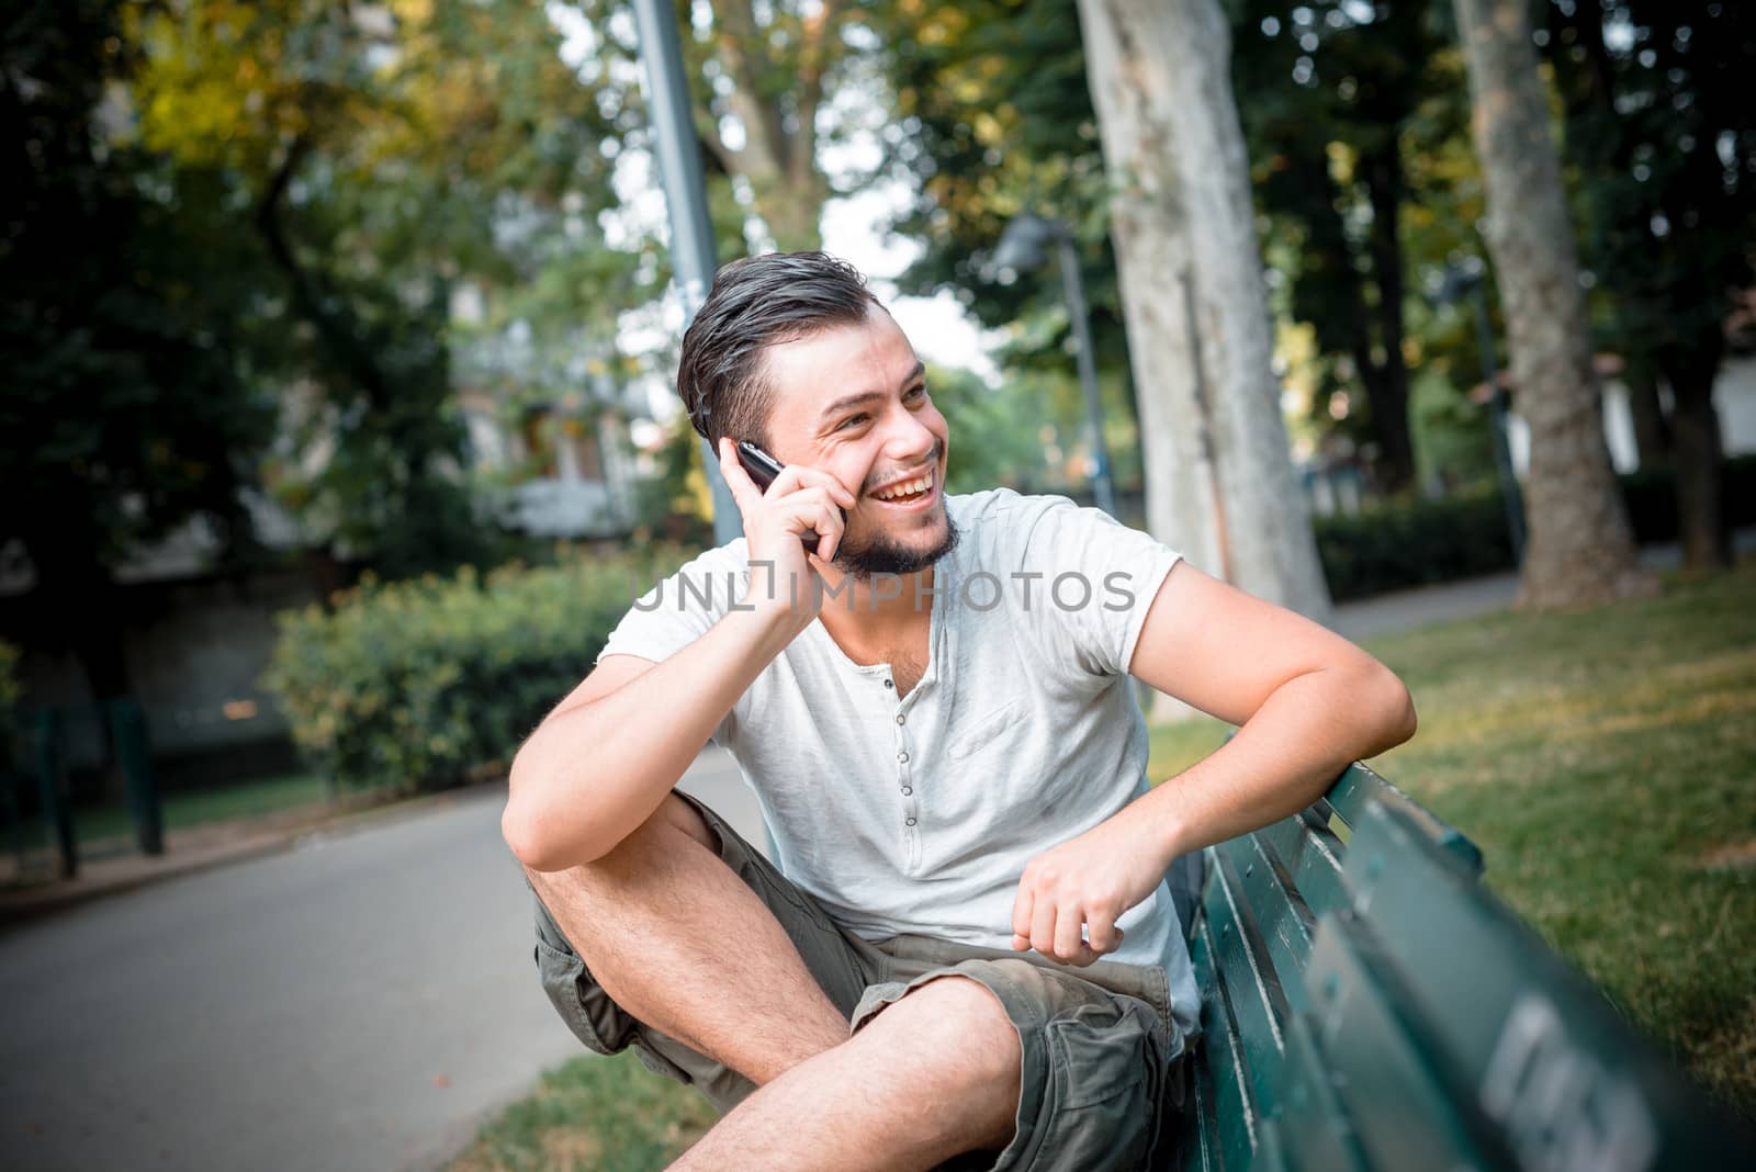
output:
[[[1677,540],[1675,474],[1645,468],[1617,479],[1635,540]],[[1726,460],[1723,488],[1726,521],[1756,525],[1756,456]],[[1336,602],[1515,565],[1498,490],[1371,505],[1357,516],[1315,518],[1312,528]]]

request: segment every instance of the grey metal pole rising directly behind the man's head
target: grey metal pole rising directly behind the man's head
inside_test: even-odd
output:
[[[683,77],[683,44],[678,40],[676,9],[671,0],[634,0],[641,60],[646,63],[646,105],[653,116],[653,144],[664,198],[671,209],[671,270],[683,298],[683,328],[708,300],[708,286],[718,268],[713,221],[708,219],[708,184],[701,172],[701,144]],[[713,488],[713,539],[725,544],[743,535],[743,521],[732,490],[720,475],[720,454],[701,440],[701,458]]]

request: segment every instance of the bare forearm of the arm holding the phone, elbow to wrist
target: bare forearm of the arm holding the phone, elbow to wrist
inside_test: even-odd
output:
[[[500,833],[518,861],[564,870],[608,854],[797,630],[785,611],[732,611],[664,663],[604,656],[513,758]]]

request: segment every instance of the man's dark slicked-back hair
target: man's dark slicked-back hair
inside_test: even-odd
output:
[[[769,253],[720,268],[708,300],[683,333],[676,393],[708,440],[767,442],[773,391],[762,351],[780,342],[860,325],[878,298],[846,261],[827,253]]]

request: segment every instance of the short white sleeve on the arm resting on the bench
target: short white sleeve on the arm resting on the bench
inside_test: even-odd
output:
[[[1147,611],[1182,554],[1101,509],[1047,500],[1027,523],[1018,558],[1031,581],[1022,621],[1054,668],[1124,675]]]

